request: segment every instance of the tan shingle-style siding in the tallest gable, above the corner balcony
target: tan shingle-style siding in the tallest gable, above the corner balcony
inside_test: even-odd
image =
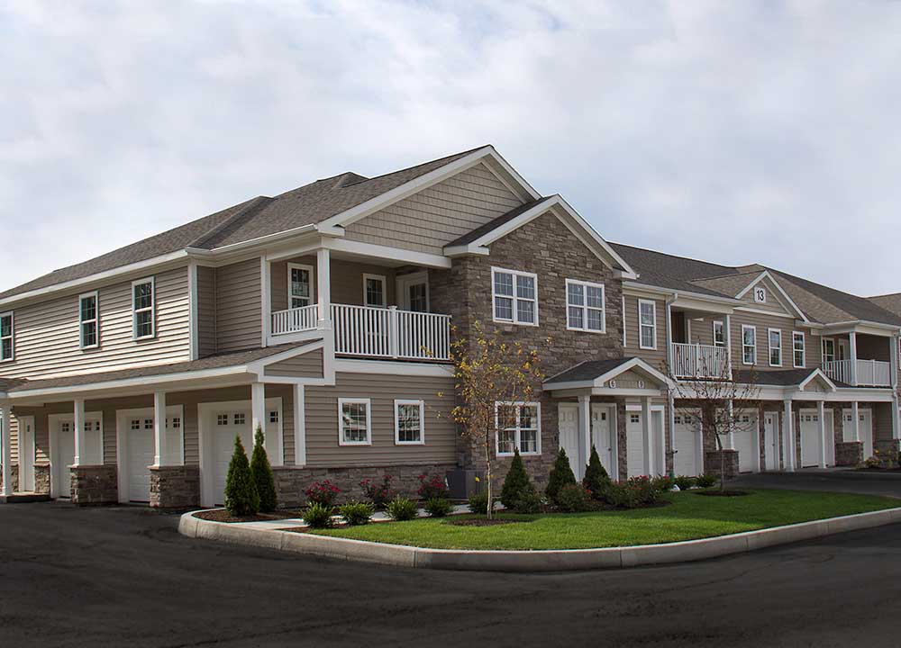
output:
[[[451,241],[520,204],[479,164],[351,224],[347,238],[441,254]]]

